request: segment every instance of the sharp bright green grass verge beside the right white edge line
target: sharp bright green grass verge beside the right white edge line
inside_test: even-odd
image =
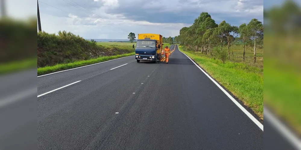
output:
[[[181,52],[193,59],[263,119],[263,75],[259,68],[230,61],[223,64],[197,52],[183,50],[183,47],[179,47]]]

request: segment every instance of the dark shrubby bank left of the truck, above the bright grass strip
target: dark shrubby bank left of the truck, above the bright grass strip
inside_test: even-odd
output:
[[[99,44],[102,43],[102,44]],[[59,31],[58,35],[38,32],[38,67],[83,62],[103,56],[122,55],[134,52],[132,46],[118,44],[105,46],[104,42],[87,41],[71,32]],[[111,44],[111,43],[110,43]]]

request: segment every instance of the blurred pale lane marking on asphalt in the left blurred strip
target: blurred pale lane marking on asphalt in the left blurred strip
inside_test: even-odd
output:
[[[4,107],[8,104],[12,104],[14,102],[24,100],[24,98],[27,98],[30,95],[36,95],[36,93],[37,93],[37,88],[35,87],[35,88],[31,88],[26,91],[19,92],[14,95],[10,95],[6,98],[1,98],[0,99],[0,107]]]

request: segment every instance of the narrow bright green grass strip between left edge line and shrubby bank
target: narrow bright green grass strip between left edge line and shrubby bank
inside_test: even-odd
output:
[[[66,64],[56,64],[54,66],[46,66],[46,67],[39,67],[38,68],[38,76],[47,74],[47,73],[52,73],[56,71],[61,71],[61,70],[67,70],[67,69],[72,69],[76,67],[81,67],[89,64],[95,64],[103,61],[108,61],[116,58],[122,58],[126,56],[131,56],[135,55],[135,52],[128,53],[128,54],[123,54],[123,55],[115,55],[115,56],[103,56],[95,59],[90,59],[90,60],[83,60],[83,61],[75,61],[71,63],[66,63]]]

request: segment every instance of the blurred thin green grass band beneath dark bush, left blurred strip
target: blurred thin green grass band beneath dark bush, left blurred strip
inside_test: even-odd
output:
[[[20,61],[8,62],[0,64],[0,74],[12,73],[32,67],[36,67],[37,58],[28,58]]]

